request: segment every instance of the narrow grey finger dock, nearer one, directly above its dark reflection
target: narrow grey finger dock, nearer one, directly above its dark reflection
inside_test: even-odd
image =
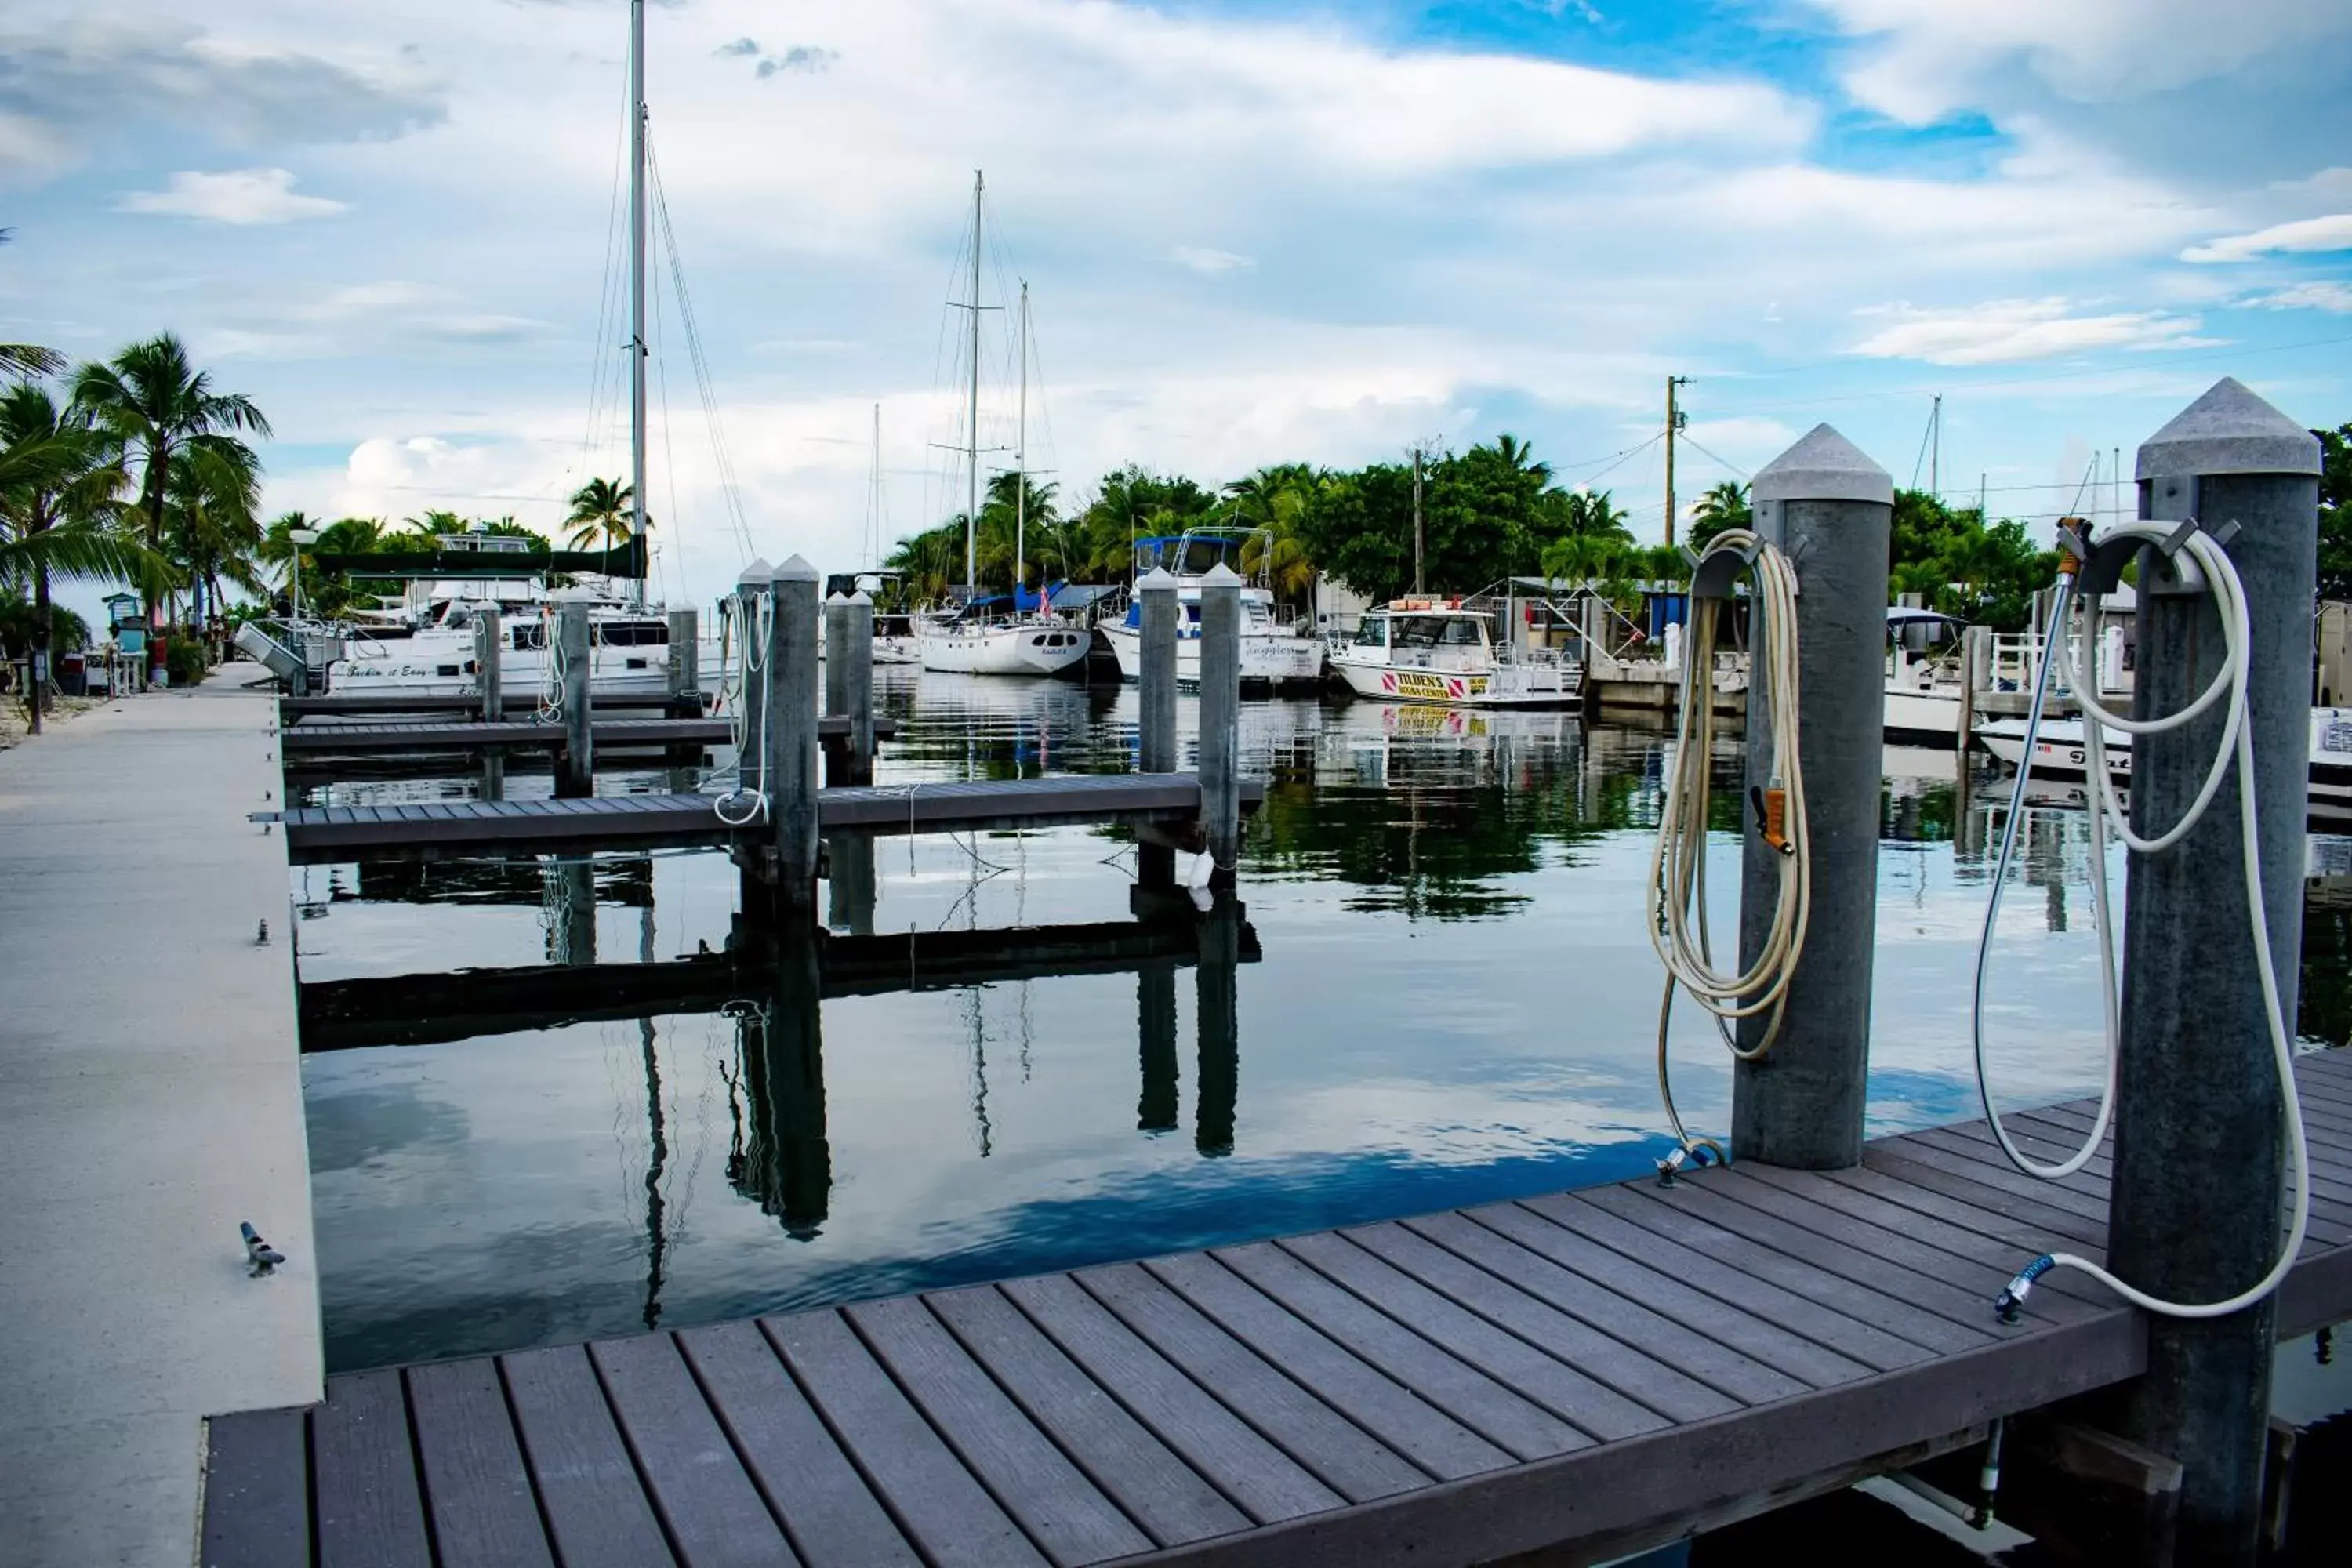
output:
[[[1265,799],[1244,780],[1242,806]],[[1129,823],[1185,827],[1200,820],[1192,773],[1058,773],[957,783],[858,785],[816,795],[818,832],[985,832]],[[362,856],[553,853],[727,844],[743,830],[717,816],[715,795],[597,795],[583,799],[473,799],[409,806],[301,806],[254,813],[280,823],[296,865]]]

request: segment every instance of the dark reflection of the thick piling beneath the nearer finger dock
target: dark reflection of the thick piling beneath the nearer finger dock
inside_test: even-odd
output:
[[[727,1180],[760,1213],[776,1215],[788,1237],[807,1241],[833,1201],[816,945],[779,943],[774,961],[769,997],[734,1011],[750,1128],[727,1161]]]

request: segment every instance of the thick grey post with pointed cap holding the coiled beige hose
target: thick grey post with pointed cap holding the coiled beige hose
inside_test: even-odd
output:
[[[1797,752],[1804,764],[1813,910],[1804,957],[1771,1051],[1736,1063],[1731,1147],[1799,1171],[1863,1161],[1870,1074],[1870,954],[1879,907],[1879,757],[1886,722],[1886,538],[1893,480],[1830,425],[1755,477],[1757,534],[1797,569]],[[1773,788],[1771,719],[1759,684],[1748,698],[1748,785]],[[1780,853],[1745,832],[1740,966],[1771,929]],[[1769,1013],[1743,1018],[1738,1041],[1764,1041]]]

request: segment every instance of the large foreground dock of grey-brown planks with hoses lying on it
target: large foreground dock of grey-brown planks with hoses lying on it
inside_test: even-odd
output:
[[[2352,1053],[2298,1079],[2352,1314]],[[2020,1114],[2044,1157],[2086,1105]],[[202,1563],[1609,1561],[1907,1467],[2145,1368],[2105,1171],[1983,1124],[626,1340],[329,1378],[209,1422]],[[313,1556],[315,1554],[315,1556]]]

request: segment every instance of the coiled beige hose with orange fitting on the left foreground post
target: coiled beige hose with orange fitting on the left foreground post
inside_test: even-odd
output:
[[[1717,969],[1708,936],[1708,818],[1715,764],[1715,642],[1724,599],[1693,592],[1691,635],[1682,651],[1675,762],[1668,769],[1658,842],[1649,858],[1649,940],[1665,966],[1665,992],[1658,999],[1658,1095],[1682,1145],[1670,1159],[1658,1161],[1661,1180],[1672,1180],[1686,1159],[1729,1164],[1724,1147],[1712,1138],[1691,1138],[1675,1110],[1668,1023],[1677,987],[1715,1018],[1715,1032],[1733,1058],[1759,1060],[1780,1037],[1788,983],[1804,954],[1804,931],[1813,907],[1804,764],[1797,752],[1797,569],[1778,545],[1750,529],[1717,534],[1705,557],[1719,552],[1745,557],[1755,574],[1757,625],[1750,682],[1771,715],[1771,752],[1764,771],[1769,785],[1755,792],[1752,804],[1755,830],[1778,851],[1778,896],[1755,961],[1740,971]],[[1731,1025],[1766,1013],[1764,1037],[1743,1048]]]

